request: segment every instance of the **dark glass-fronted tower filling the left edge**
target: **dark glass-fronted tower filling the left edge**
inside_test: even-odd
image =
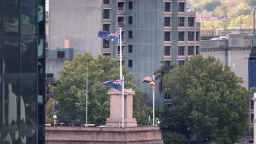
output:
[[[0,0],[0,144],[44,143],[44,0]]]

